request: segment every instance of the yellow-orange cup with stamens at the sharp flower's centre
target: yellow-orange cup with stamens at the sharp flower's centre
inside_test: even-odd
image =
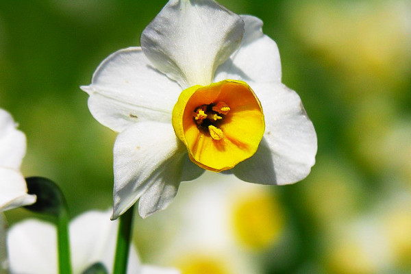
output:
[[[218,172],[256,153],[265,124],[253,90],[245,82],[225,80],[183,90],[173,127],[192,162]]]

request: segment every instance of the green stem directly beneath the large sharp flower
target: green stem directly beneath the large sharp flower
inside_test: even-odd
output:
[[[119,232],[117,233],[116,257],[114,260],[114,271],[116,274],[127,272],[127,259],[129,255],[130,243],[132,242],[134,206],[129,208],[120,216]]]

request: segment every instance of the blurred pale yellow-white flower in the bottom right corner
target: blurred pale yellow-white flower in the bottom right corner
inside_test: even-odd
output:
[[[323,239],[329,273],[410,273],[411,195],[392,189],[362,216],[340,223]]]

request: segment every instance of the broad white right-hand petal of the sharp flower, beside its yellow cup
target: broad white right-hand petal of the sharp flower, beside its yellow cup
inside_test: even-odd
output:
[[[301,99],[281,83],[250,86],[261,101],[266,130],[257,153],[238,164],[233,173],[260,184],[292,184],[304,179],[315,162],[317,139]]]

